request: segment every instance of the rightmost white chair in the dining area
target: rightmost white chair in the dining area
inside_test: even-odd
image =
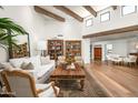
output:
[[[136,55],[128,55],[128,58],[124,59],[124,64],[129,66],[136,65],[137,56]]]

